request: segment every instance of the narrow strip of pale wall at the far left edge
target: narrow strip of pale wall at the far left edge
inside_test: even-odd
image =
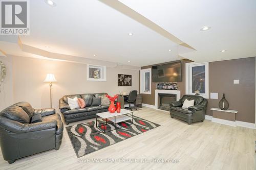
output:
[[[13,103],[12,57],[0,56],[6,66],[6,78],[1,85],[0,111]]]

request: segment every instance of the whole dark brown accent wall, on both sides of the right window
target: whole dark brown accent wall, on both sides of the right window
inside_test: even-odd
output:
[[[182,62],[182,82],[179,82],[181,96],[185,94],[185,63]],[[157,65],[157,64],[155,64]],[[150,66],[141,69],[151,68]],[[233,84],[234,79],[239,79],[240,84]],[[156,83],[151,84],[151,94],[142,94],[144,104],[155,105]],[[219,107],[222,93],[229,102],[229,109],[238,110],[237,120],[254,123],[255,121],[255,57],[209,62],[209,98],[210,92],[218,92],[219,99],[207,99],[206,114],[212,115],[210,108]]]

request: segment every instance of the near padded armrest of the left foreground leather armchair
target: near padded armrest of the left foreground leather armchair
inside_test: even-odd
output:
[[[45,120],[35,124],[23,124],[0,116],[0,127],[13,133],[26,133],[56,128],[56,120]]]

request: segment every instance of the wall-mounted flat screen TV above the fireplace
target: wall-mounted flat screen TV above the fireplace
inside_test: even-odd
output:
[[[152,66],[153,82],[181,82],[181,62]]]

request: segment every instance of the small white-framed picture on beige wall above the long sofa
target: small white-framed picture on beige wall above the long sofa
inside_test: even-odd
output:
[[[106,66],[87,64],[87,81],[106,81]]]

